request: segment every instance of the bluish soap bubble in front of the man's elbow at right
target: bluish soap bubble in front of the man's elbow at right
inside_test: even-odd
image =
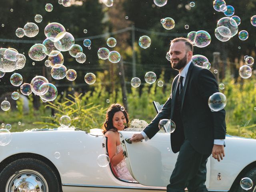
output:
[[[208,99],[208,106],[212,111],[220,111],[227,104],[227,98],[223,93],[216,92]]]

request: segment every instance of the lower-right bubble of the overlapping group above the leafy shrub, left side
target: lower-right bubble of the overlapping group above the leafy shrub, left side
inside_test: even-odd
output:
[[[45,90],[47,90],[45,92]],[[39,92],[44,92],[43,95],[40,95],[40,98],[46,101],[53,101],[58,96],[58,90],[54,84],[44,83],[39,87]]]

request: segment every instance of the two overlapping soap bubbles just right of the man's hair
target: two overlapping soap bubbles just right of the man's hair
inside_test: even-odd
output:
[[[212,38],[207,31],[192,31],[188,33],[187,38],[197,47],[206,47],[210,44]]]

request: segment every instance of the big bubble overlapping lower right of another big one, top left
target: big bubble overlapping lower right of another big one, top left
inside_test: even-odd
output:
[[[59,39],[57,42],[54,42],[55,47],[60,51],[68,51],[75,44],[75,38],[71,33],[66,32],[63,36],[62,33],[59,33],[55,38]],[[62,38],[60,38],[62,37]]]

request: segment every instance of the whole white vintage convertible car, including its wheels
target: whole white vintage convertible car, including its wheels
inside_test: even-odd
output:
[[[170,134],[157,133],[147,142],[130,144],[126,138],[135,132],[120,132],[126,164],[138,181],[135,183],[117,178],[110,165],[97,164],[98,156],[108,152],[107,138],[97,130],[88,133],[70,128],[12,133],[11,142],[0,146],[0,192],[166,190],[178,155],[170,149]],[[208,191],[242,191],[243,177],[256,183],[256,140],[227,135],[225,142],[224,160],[208,159]]]

